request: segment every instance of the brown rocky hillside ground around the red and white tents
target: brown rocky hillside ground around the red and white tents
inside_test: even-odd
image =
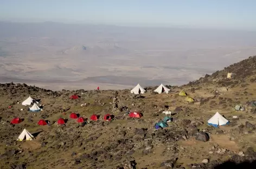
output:
[[[226,78],[228,72],[235,74],[233,79]],[[147,87],[145,94],[134,95],[130,89],[53,92],[25,84],[2,84],[0,167],[214,168],[227,160],[253,161],[256,109],[247,103],[255,99],[255,72],[256,56],[188,85],[172,86],[169,94],[153,93],[156,87]],[[187,103],[184,96],[178,95],[180,90],[185,90],[195,102]],[[69,99],[73,94],[81,98]],[[41,99],[45,105],[43,111],[28,112],[21,105],[28,96]],[[84,103],[86,106],[81,107]],[[246,111],[234,111],[239,103]],[[69,107],[62,113],[62,109]],[[168,128],[156,130],[154,125],[164,118],[165,110],[172,111],[173,121]],[[139,111],[143,117],[131,119],[125,115],[129,111]],[[82,126],[68,119],[71,112],[86,118],[98,114],[100,119],[88,120]],[[207,120],[216,112],[230,124],[219,128],[208,126]],[[106,113],[113,114],[114,120],[104,121]],[[15,117],[24,121],[11,125]],[[65,125],[55,123],[60,117],[68,119]],[[51,125],[37,125],[40,119],[49,120]],[[24,128],[35,140],[16,141]],[[209,141],[195,139],[201,131],[209,134]]]

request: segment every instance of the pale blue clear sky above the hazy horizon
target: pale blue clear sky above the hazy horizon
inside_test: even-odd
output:
[[[0,20],[256,30],[255,0],[1,0]]]

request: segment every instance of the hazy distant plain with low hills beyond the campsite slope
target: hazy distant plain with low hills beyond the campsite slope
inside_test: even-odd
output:
[[[256,54],[256,32],[0,22],[0,83],[52,90],[183,85]]]

